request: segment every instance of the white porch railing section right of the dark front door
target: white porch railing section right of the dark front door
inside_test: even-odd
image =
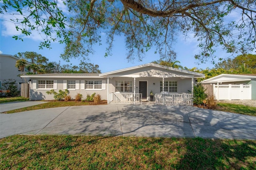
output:
[[[168,92],[156,93],[156,104],[161,105],[193,105],[193,95],[188,93],[173,94]]]

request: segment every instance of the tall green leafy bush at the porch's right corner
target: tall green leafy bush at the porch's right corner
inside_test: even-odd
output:
[[[204,93],[205,89],[201,83],[194,86],[193,103],[201,105],[202,101],[206,99],[207,95]]]

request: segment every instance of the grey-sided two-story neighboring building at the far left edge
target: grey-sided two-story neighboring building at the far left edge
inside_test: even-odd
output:
[[[16,61],[19,59],[12,55],[0,54],[0,87],[4,80],[9,79],[16,80],[17,83],[24,83],[18,76],[21,71],[15,67]]]

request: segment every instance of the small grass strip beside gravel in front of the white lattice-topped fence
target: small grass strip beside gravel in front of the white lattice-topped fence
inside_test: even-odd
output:
[[[232,103],[218,103],[214,110],[238,113],[241,115],[256,116],[256,107],[238,105]]]

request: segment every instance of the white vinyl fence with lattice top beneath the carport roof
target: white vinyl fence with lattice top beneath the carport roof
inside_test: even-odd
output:
[[[251,100],[252,85],[214,85],[217,100]]]

